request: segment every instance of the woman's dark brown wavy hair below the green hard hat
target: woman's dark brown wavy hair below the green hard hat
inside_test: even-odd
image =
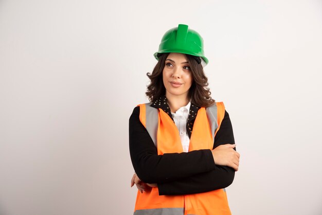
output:
[[[152,73],[147,73],[147,76],[151,80],[148,85],[148,90],[146,95],[149,97],[150,102],[154,102],[160,96],[166,94],[166,88],[163,84],[163,68],[165,66],[165,61],[169,53],[164,53],[159,57],[159,61],[155,65]],[[188,99],[191,100],[197,106],[205,107],[212,105],[214,100],[211,98],[211,92],[207,87],[208,78],[206,77],[203,67],[201,64],[198,64],[194,57],[191,55],[186,55],[187,60],[190,65],[191,74],[192,74],[192,85],[189,89]]]

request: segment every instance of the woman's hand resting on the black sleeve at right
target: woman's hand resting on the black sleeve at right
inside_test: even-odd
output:
[[[240,154],[234,150],[235,147],[236,144],[225,144],[211,150],[214,163],[238,171]]]

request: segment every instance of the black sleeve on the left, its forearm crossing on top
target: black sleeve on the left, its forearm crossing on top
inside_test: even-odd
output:
[[[145,183],[167,183],[216,169],[209,149],[188,153],[157,154],[157,149],[139,120],[139,107],[129,120],[130,155],[134,170]]]

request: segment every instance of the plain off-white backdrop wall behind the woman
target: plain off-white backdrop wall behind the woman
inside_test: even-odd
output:
[[[132,214],[128,120],[163,34],[204,38],[232,214],[322,214],[322,1],[0,1],[0,214]]]

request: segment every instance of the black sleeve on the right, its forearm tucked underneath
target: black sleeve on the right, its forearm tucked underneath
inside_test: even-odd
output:
[[[234,134],[227,112],[225,112],[220,129],[214,138],[213,149],[223,144],[235,144]],[[216,168],[209,172],[195,174],[174,182],[159,183],[159,195],[192,194],[222,189],[228,187],[234,181],[234,177],[234,169],[216,165]]]

